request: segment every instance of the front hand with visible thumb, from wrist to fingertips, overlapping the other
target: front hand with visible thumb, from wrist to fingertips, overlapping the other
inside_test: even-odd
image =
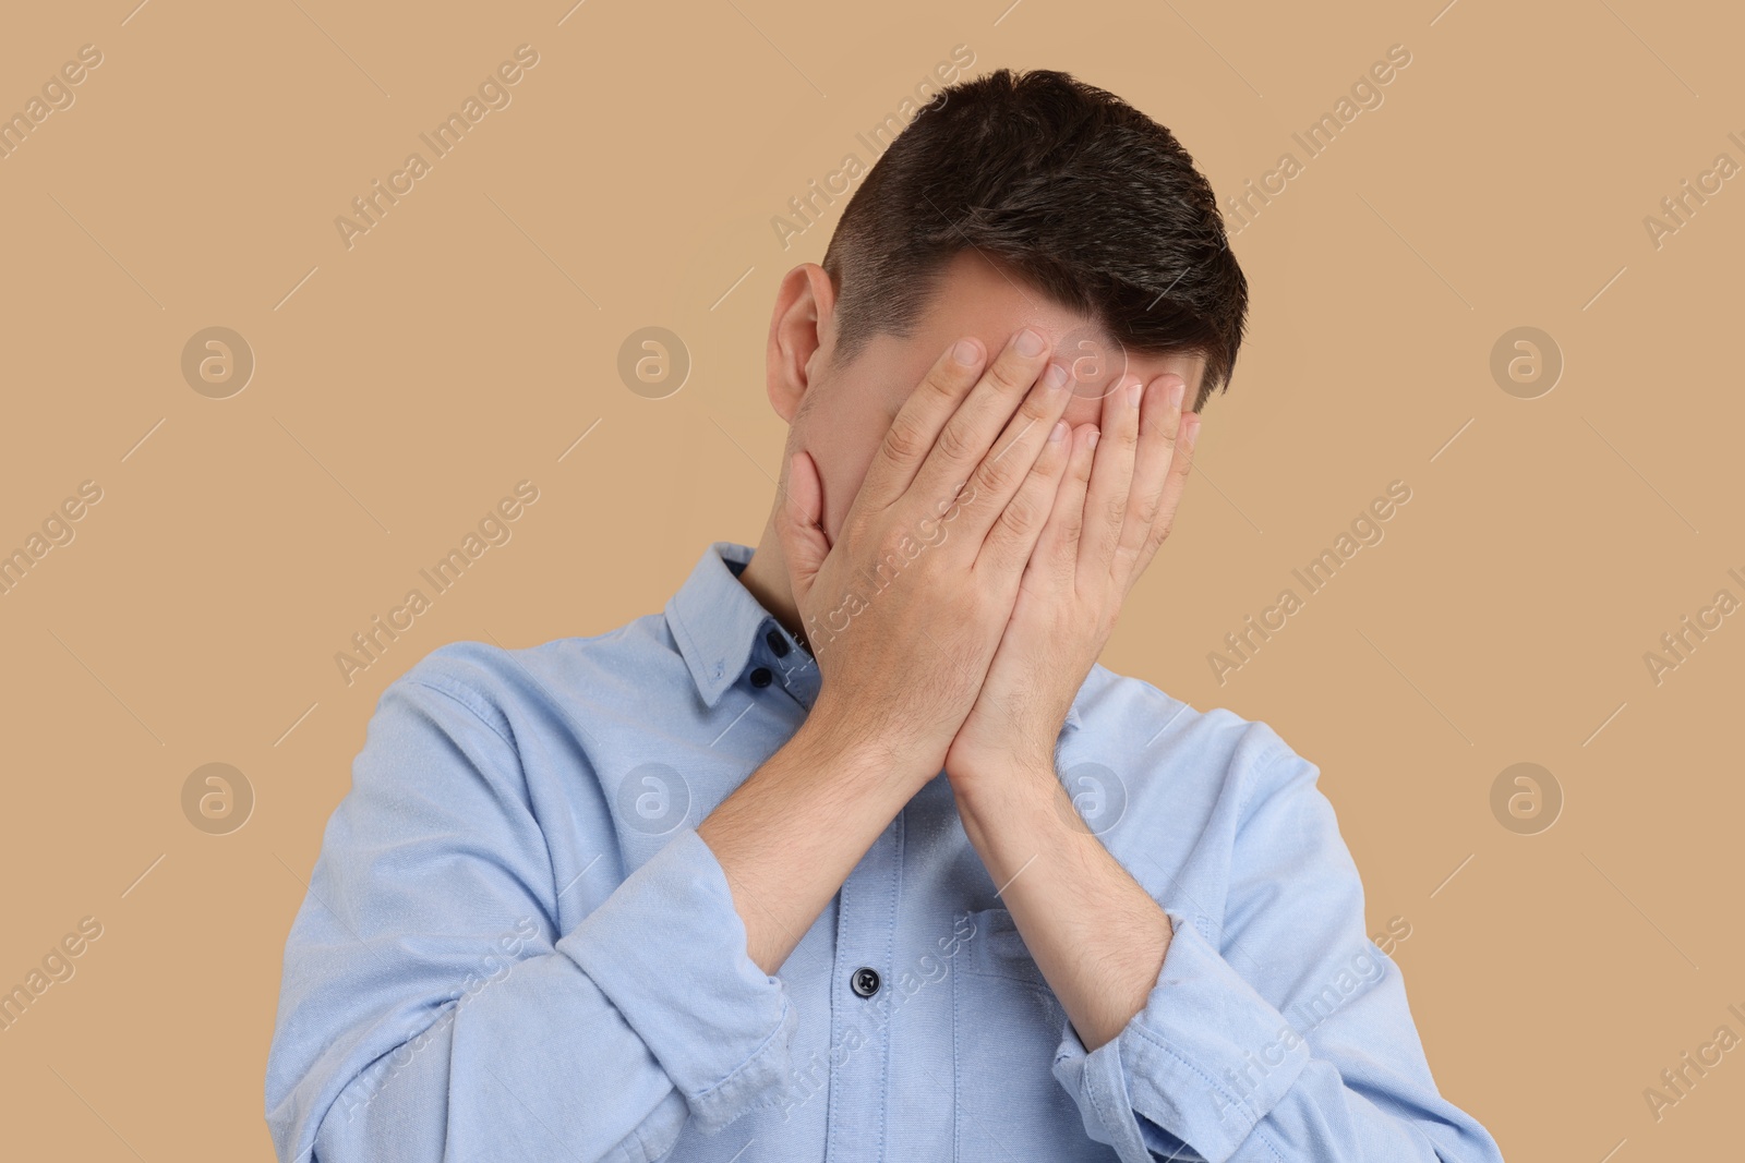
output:
[[[981,690],[1066,469],[1071,377],[1019,331],[946,350],[885,434],[834,544],[804,452],[777,534],[822,687],[808,727],[939,772]]]

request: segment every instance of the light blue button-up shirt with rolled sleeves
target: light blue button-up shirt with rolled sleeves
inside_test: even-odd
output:
[[[1085,1053],[944,774],[759,969],[696,825],[818,670],[749,560],[382,692],[284,949],[281,1160],[1501,1160],[1436,1092],[1317,769],[1101,666],[1057,767],[1174,926],[1117,1039]]]

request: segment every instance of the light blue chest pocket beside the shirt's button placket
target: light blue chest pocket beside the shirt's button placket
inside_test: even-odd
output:
[[[956,1161],[1115,1160],[1092,1140],[1054,1079],[1066,1011],[1019,936],[1012,914],[970,914],[975,929],[951,982],[956,1058]]]

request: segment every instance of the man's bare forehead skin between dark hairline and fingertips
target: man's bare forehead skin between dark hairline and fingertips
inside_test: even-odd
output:
[[[974,249],[961,251],[946,265],[909,337],[879,335],[867,354],[874,363],[885,364],[886,375],[881,378],[888,385],[886,403],[895,411],[956,338],[974,335],[993,359],[1026,326],[1047,337],[1054,357],[1073,371],[1073,394],[1078,399],[1068,406],[1068,424],[1096,420],[1098,401],[1127,371],[1143,380],[1176,371],[1187,380],[1192,401],[1206,363],[1199,356],[1131,354],[1096,319],[1054,302],[1012,269]]]

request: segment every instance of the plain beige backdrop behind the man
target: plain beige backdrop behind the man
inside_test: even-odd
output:
[[[270,1158],[283,940],[377,694],[443,642],[658,610],[708,541],[756,541],[771,293],[841,201],[785,251],[770,220],[960,44],[1122,94],[1222,197],[1412,54],[1234,241],[1251,338],[1105,663],[1321,765],[1372,933],[1410,924],[1436,1079],[1511,1160],[1736,1144],[1745,1051],[1659,1121],[1642,1095],[1745,1036],[1745,616],[1644,663],[1745,598],[1745,180],[1644,227],[1745,162],[1735,5],[133,2],[0,37],[0,112],[103,54],[0,160],[0,549],[103,490],[0,596],[0,987],[103,926],[0,1032],[0,1153]],[[513,103],[347,249],[335,216],[522,44]],[[180,370],[208,326],[255,354],[229,399]],[[644,326],[691,352],[667,399],[616,373]],[[1518,326],[1565,361],[1536,399],[1490,373]],[[333,654],[520,479],[513,541],[347,687]],[[1386,541],[1220,684],[1223,635],[1394,479]],[[183,814],[209,762],[255,793],[229,835]],[[1490,807],[1516,762],[1565,799],[1536,835]]]

